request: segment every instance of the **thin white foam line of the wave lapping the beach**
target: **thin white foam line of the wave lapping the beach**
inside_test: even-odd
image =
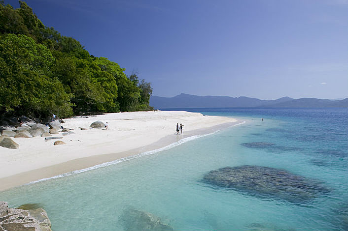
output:
[[[244,123],[245,123],[245,121],[243,121],[241,123],[238,123],[238,124],[231,125],[229,127],[234,127],[234,126],[241,125],[241,124],[244,124]],[[42,182],[42,181],[46,181],[46,180],[50,180],[50,179],[57,179],[57,178],[65,177],[65,176],[75,175],[75,174],[78,174],[78,173],[84,173],[84,172],[87,172],[87,171],[103,168],[103,167],[106,167],[106,166],[109,166],[109,165],[118,164],[118,163],[121,163],[121,162],[124,162],[124,161],[128,161],[128,160],[132,160],[132,159],[135,159],[135,158],[139,158],[141,156],[152,155],[154,153],[157,153],[157,152],[160,152],[160,151],[163,151],[163,150],[171,149],[171,148],[173,148],[175,146],[178,146],[180,144],[184,144],[186,142],[193,141],[193,140],[196,140],[196,139],[201,138],[201,137],[212,135],[212,134],[214,134],[216,132],[219,132],[219,131],[221,131],[221,130],[216,130],[216,131],[214,131],[212,133],[205,134],[205,135],[195,135],[195,136],[186,137],[186,138],[183,138],[183,139],[181,139],[181,140],[179,140],[177,142],[174,142],[172,144],[169,144],[167,146],[160,147],[160,148],[157,148],[157,149],[154,149],[154,150],[145,151],[145,152],[142,152],[142,153],[139,153],[139,154],[136,154],[136,155],[123,157],[123,158],[120,158],[120,159],[117,159],[117,160],[113,160],[113,161],[109,161],[109,162],[105,162],[105,163],[102,163],[102,164],[99,164],[99,165],[94,165],[94,166],[91,166],[91,167],[86,168],[86,169],[74,170],[74,171],[71,171],[69,173],[63,173],[63,174],[55,175],[55,176],[52,176],[52,177],[38,179],[38,180],[35,180],[35,181],[31,181],[31,182],[29,182],[27,184],[34,184],[34,183],[38,183],[38,182]],[[24,185],[27,185],[27,184],[24,184]]]

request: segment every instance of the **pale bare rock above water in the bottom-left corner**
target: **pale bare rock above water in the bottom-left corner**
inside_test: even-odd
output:
[[[0,231],[52,231],[51,221],[42,208],[8,208],[0,202]]]

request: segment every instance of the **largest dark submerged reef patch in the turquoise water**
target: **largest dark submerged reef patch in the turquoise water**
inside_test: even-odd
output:
[[[330,191],[317,180],[281,169],[249,165],[210,171],[205,174],[204,182],[252,196],[271,197],[293,203],[306,203]]]

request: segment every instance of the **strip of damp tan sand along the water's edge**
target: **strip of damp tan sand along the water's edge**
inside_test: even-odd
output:
[[[98,165],[102,165],[108,162],[114,162],[111,164],[119,163],[122,161],[143,156],[145,155],[143,154],[145,152],[155,153],[158,151],[157,149],[166,148],[167,146],[172,145],[176,142],[179,142],[185,138],[194,137],[194,136],[201,137],[204,135],[209,135],[213,132],[228,128],[230,126],[233,126],[242,122],[241,120],[236,120],[230,117],[223,117],[223,116],[205,116],[205,117],[215,117],[215,118],[220,117],[221,121],[224,121],[227,119],[227,120],[230,120],[230,122],[223,122],[223,123],[218,123],[216,125],[209,126],[209,127],[184,131],[182,135],[181,134],[176,135],[172,133],[164,137],[161,137],[159,140],[152,142],[150,144],[140,145],[135,148],[128,148],[127,150],[124,150],[124,151],[82,156],[80,158],[74,158],[61,163],[54,163],[49,166],[44,166],[41,168],[33,168],[33,169],[30,169],[29,171],[23,171],[20,173],[10,174],[8,176],[0,178],[0,191],[5,191],[7,189],[17,187],[23,184],[28,184],[28,183],[47,180],[47,179],[58,178],[58,177],[66,176],[66,175],[85,172],[88,170],[95,169],[98,167]],[[28,139],[28,138],[24,138],[24,139]],[[97,148],[99,147],[97,146]],[[104,166],[106,165],[103,165],[100,167],[104,167]]]

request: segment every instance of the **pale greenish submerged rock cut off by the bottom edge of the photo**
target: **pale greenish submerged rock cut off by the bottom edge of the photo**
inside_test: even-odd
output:
[[[173,231],[172,227],[163,224],[161,219],[153,214],[132,208],[124,210],[119,220],[127,231]]]

